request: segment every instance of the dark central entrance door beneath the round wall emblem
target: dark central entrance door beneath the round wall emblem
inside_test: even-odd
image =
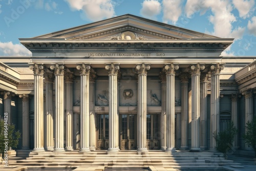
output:
[[[123,114],[120,117],[120,142],[121,149],[135,149],[136,148],[136,115]]]

